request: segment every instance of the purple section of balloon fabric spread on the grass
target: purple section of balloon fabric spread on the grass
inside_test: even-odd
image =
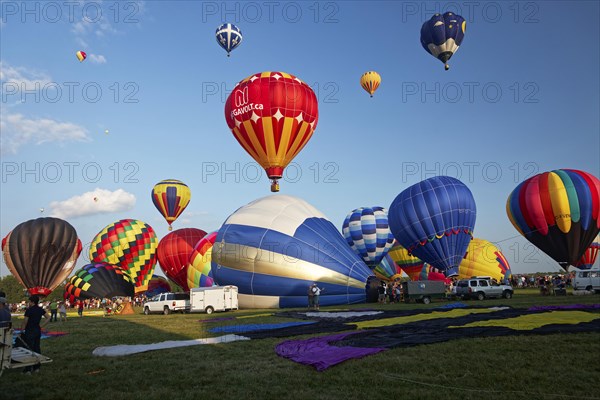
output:
[[[337,342],[357,333],[359,332],[346,332],[306,340],[286,340],[275,347],[275,352],[280,357],[289,358],[300,364],[311,365],[317,371],[324,371],[346,360],[362,358],[387,350],[384,348],[337,347],[329,345],[331,342]]]

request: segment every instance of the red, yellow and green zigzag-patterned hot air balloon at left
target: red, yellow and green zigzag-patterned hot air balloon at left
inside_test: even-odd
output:
[[[122,219],[102,229],[90,245],[92,263],[105,262],[125,270],[133,280],[135,292],[148,289],[156,265],[158,238],[145,222]]]

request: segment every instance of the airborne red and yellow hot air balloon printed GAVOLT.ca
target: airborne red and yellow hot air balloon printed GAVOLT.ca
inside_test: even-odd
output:
[[[279,191],[284,168],[310,140],[319,118],[317,97],[285,72],[262,72],[239,82],[225,103],[236,140],[267,172]]]

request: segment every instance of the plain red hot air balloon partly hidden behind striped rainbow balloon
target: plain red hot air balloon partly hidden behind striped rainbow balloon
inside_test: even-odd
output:
[[[185,292],[187,285],[187,265],[194,246],[206,235],[202,229],[177,229],[163,237],[158,243],[158,264],[165,275],[178,284]]]

